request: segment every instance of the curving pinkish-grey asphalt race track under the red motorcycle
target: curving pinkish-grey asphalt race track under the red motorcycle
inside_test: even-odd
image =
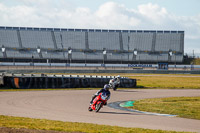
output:
[[[0,115],[96,123],[173,131],[200,132],[200,120],[154,116],[117,110],[105,106],[99,113],[89,112],[95,90],[57,90],[0,92]],[[109,102],[145,98],[200,96],[200,90],[111,90]]]

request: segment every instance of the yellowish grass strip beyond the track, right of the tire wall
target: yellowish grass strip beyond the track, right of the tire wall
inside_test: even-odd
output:
[[[128,76],[128,75],[127,75]],[[180,76],[180,77],[176,77]],[[181,77],[183,76],[183,77]],[[187,77],[184,77],[187,76]],[[200,77],[194,75],[176,74],[145,74],[140,76],[128,76],[137,79],[138,88],[159,88],[159,89],[200,89]],[[195,75],[199,76],[199,75]]]

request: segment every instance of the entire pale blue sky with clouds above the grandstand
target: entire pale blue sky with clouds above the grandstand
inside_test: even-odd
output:
[[[183,30],[200,54],[200,0],[0,0],[1,26]]]

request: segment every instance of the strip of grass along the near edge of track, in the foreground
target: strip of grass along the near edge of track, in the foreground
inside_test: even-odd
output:
[[[45,119],[31,119],[23,117],[1,116],[0,127],[54,130],[66,132],[87,132],[87,133],[183,133],[175,131],[150,130],[142,128],[124,128],[117,126],[106,126],[86,123],[62,122]]]

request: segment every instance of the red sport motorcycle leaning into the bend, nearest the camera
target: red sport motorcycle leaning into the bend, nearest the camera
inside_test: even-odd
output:
[[[96,98],[93,100],[92,104],[89,106],[88,111],[96,111],[99,112],[99,110],[103,107],[103,105],[106,104],[108,96],[106,93],[100,93]]]

